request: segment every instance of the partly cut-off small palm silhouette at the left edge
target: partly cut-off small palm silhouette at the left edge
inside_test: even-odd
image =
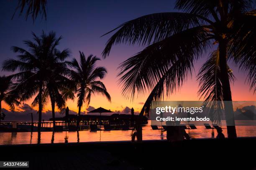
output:
[[[12,86],[13,82],[11,81],[11,77],[0,76],[0,112],[2,112],[2,101],[4,101],[11,110],[14,110],[14,104],[20,104],[17,100],[18,97],[11,92]]]

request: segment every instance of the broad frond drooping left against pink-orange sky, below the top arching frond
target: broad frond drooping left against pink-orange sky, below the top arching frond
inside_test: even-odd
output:
[[[184,60],[184,67],[190,66],[190,62],[205,52],[209,43],[207,32],[199,26],[146,47],[120,65],[118,76],[121,76],[122,94],[127,98],[131,95],[131,99],[136,92],[143,95],[146,89],[154,88],[177,60]]]

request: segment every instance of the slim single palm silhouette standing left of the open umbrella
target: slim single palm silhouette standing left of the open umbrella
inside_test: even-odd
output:
[[[111,102],[111,97],[105,85],[100,81],[105,77],[107,70],[105,67],[96,67],[96,62],[100,59],[93,55],[85,57],[83,52],[79,51],[79,53],[80,62],[77,62],[75,58],[70,62],[70,66],[74,69],[70,70],[70,78],[77,85],[77,128],[79,128],[81,107],[84,102],[86,102],[87,105],[90,104],[92,95],[103,95]]]

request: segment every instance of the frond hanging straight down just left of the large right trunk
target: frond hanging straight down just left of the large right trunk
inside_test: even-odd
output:
[[[213,51],[209,59],[202,65],[197,75],[200,88],[198,95],[204,99],[205,112],[208,111],[212,122],[220,125],[223,117],[223,89],[221,84],[221,73],[219,63],[219,50]],[[227,70],[230,68],[227,65]],[[228,74],[230,82],[236,79],[232,72]]]

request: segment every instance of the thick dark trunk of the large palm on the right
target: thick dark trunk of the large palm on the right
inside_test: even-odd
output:
[[[223,91],[223,100],[224,100],[224,110],[225,110],[225,119],[227,123],[228,138],[236,138],[236,126],[234,119],[234,110],[232,104],[232,95],[230,90],[230,82],[228,77],[227,69],[227,45],[228,41],[224,38],[219,41],[219,50],[220,50],[220,72],[221,77],[220,81],[222,84]],[[230,102],[226,102],[230,101]]]

